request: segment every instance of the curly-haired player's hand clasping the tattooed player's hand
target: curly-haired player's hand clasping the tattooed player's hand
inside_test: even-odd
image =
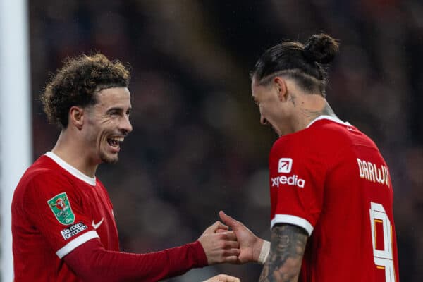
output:
[[[217,230],[226,230],[216,233]],[[209,226],[198,238],[207,256],[207,262],[220,264],[223,262],[235,263],[240,255],[239,243],[233,231],[228,231],[228,226],[216,221]]]

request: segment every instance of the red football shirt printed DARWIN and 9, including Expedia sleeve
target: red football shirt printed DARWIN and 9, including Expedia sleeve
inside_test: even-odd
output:
[[[309,234],[299,281],[399,281],[391,179],[369,137],[321,116],[274,143],[269,170],[271,228]]]

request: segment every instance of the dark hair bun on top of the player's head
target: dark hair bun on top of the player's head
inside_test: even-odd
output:
[[[321,33],[319,35],[312,35],[307,40],[302,55],[309,61],[316,61],[317,63],[330,63],[338,53],[339,44],[335,39]]]

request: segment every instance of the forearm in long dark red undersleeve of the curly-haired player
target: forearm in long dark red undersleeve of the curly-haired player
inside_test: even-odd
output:
[[[63,259],[83,281],[159,281],[207,265],[199,242],[131,254],[105,250],[98,240],[90,240]]]

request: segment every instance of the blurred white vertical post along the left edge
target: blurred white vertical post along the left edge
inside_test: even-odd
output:
[[[1,281],[13,281],[11,199],[32,161],[26,0],[0,0]]]

